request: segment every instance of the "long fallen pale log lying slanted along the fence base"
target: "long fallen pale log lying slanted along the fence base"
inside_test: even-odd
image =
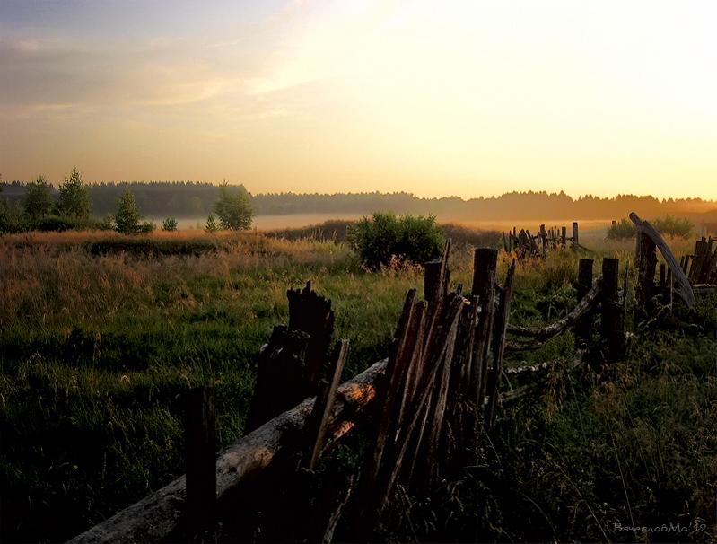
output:
[[[331,410],[324,451],[340,443],[356,424],[356,413],[363,411],[376,397],[375,382],[386,371],[384,359],[341,385]],[[220,452],[216,461],[217,498],[241,482],[267,469],[277,453],[301,447],[296,431],[301,430],[313,408],[315,398],[267,421],[237,443]],[[151,496],[127,507],[105,522],[75,537],[72,544],[123,544],[153,542],[174,531],[180,520],[186,495],[186,478],[181,476]]]

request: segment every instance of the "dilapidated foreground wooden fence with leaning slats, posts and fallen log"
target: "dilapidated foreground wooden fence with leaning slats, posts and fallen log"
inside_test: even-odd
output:
[[[450,292],[449,251],[450,241],[442,260],[427,264],[424,300],[408,292],[388,359],[342,385],[348,341],[325,355],[330,301],[310,283],[289,291],[289,325],[277,326],[262,351],[249,434],[217,457],[214,391],[189,391],[186,477],[72,542],[328,542],[342,517],[356,539],[375,540],[396,515],[399,491],[424,494],[474,461],[479,430],[515,398],[499,394],[503,376],[536,370],[504,371],[507,350],[536,349],[569,329],[577,347],[589,347],[598,313],[600,349],[621,349],[616,259],[603,260],[594,284],[592,261],[581,259],[574,310],[526,328],[509,324],[515,261],[500,286],[497,250],[475,250],[472,294],[464,297],[462,285]],[[335,478],[309,509],[302,497],[313,469],[359,427],[368,459],[354,477]]]

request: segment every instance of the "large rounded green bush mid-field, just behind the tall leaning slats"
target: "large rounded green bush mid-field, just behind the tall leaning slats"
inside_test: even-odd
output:
[[[380,268],[396,256],[424,264],[441,255],[445,238],[433,215],[374,212],[349,227],[348,242],[364,266]]]

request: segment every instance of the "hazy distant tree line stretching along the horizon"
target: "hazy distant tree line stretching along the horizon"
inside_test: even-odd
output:
[[[0,201],[20,204],[32,183],[2,183]],[[221,194],[221,185],[194,181],[133,181],[120,183],[91,183],[84,186],[90,197],[92,215],[113,214],[117,200],[126,189],[136,199],[136,206],[150,217],[198,218],[215,214],[214,205]],[[48,184],[50,196],[58,198],[58,191]],[[420,198],[406,192],[399,193],[336,193],[297,194],[270,193],[249,195],[243,186],[227,186],[232,194],[244,194],[257,215],[291,214],[354,214],[372,215],[389,212],[413,215],[450,215],[453,221],[536,220],[575,221],[587,219],[618,219],[637,211],[647,217],[664,215],[701,214],[717,211],[717,203],[701,198],[659,200],[655,197],[618,195],[599,198],[591,195],[573,198],[563,191],[509,192],[500,197],[478,197],[464,200],[459,197]]]

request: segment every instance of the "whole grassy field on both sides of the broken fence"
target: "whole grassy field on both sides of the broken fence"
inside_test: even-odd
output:
[[[486,239],[451,228],[452,285],[469,291],[471,249]],[[307,279],[333,302],[335,338],[350,339],[345,379],[387,355],[422,270],[368,272],[326,236],[288,238],[0,237],[3,541],[66,540],[179,476],[189,387],[216,386],[220,445],[240,438],[259,347],[288,321],[286,290]],[[602,255],[634,259],[629,243],[594,250],[596,276]],[[508,265],[502,257],[499,281]],[[521,266],[512,322],[562,317],[576,268],[570,253]],[[700,530],[714,531],[716,308],[710,298],[682,316],[696,329],[629,323],[627,356],[603,375],[559,364],[572,356],[569,335],[511,355],[512,365],[558,364],[481,437],[464,478],[406,505],[397,540],[709,540]],[[615,529],[677,522],[689,532]]]

